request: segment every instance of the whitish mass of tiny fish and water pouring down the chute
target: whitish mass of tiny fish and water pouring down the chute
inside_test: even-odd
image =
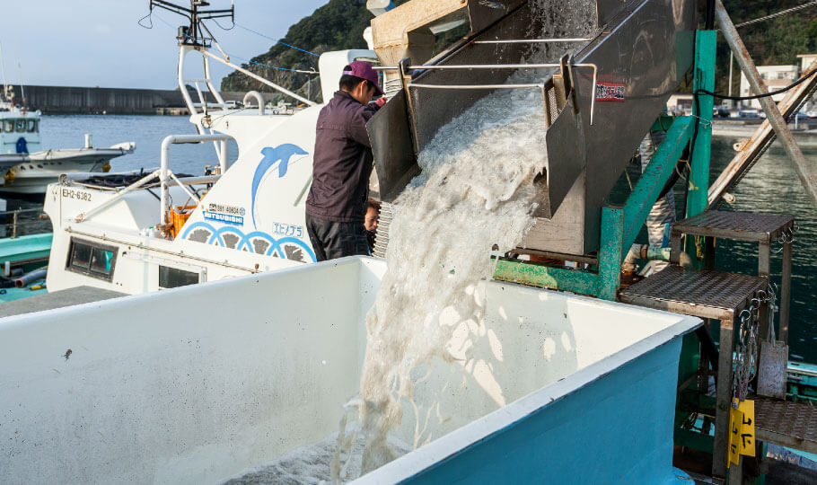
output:
[[[509,79],[524,82],[521,73]],[[470,348],[460,333],[476,337],[483,319],[478,287],[492,275],[491,249],[513,250],[533,224],[534,179],[547,163],[541,102],[537,90],[499,90],[478,101],[439,130],[418,156],[421,174],[394,201],[388,271],[366,317],[360,391],[342,422],[360,421],[363,473],[396,457],[387,438],[403,404],[414,411],[415,448],[432,439],[431,419],[446,419],[439,406],[421,410],[414,392],[435,361],[466,367]],[[497,404],[505,404],[501,396]],[[338,459],[343,441],[334,481],[355,478]]]

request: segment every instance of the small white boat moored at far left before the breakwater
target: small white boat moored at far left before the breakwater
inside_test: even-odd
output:
[[[134,142],[94,148],[91,135],[82,148],[42,150],[39,110],[27,110],[14,101],[11,86],[0,96],[0,195],[36,197],[61,173],[108,172],[110,160],[136,150]]]

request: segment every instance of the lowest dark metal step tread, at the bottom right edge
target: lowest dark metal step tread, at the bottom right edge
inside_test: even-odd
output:
[[[759,441],[817,453],[817,407],[758,399],[754,403],[754,415]]]

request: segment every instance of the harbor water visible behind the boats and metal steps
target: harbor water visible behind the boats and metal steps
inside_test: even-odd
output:
[[[196,128],[187,117],[171,116],[43,116],[43,148],[75,148],[91,133],[93,145],[102,147],[121,142],[136,142],[136,152],[111,161],[111,172],[154,169],[159,166],[160,145],[171,134],[194,134]],[[712,145],[712,172],[716,174],[734,156],[731,137],[716,137]],[[806,159],[817,166],[817,148],[804,147]],[[230,159],[238,154],[230,144]],[[205,165],[218,163],[212,144],[174,145],[171,170],[200,175]],[[713,175],[713,180],[715,175]],[[679,183],[676,191],[681,189]],[[760,162],[733,191],[734,205],[724,210],[768,212],[795,217],[797,232],[792,269],[792,315],[789,347],[792,360],[817,362],[817,205],[809,198],[797,178],[791,162],[779,145],[773,145]],[[680,198],[680,194],[678,195]],[[9,208],[36,207],[36,201],[9,201]],[[31,222],[48,230],[44,222]],[[757,273],[756,244],[718,240],[716,268],[741,273]],[[772,272],[779,282],[781,255],[772,255]]]

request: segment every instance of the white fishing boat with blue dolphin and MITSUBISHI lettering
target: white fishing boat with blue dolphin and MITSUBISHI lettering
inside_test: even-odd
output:
[[[315,261],[304,205],[321,106],[216,56],[211,46],[212,40],[180,37],[177,81],[198,135],[165,137],[158,170],[124,182],[117,177],[118,184],[66,173],[48,187],[44,211],[54,230],[49,290],[90,286],[138,295]],[[204,66],[204,72],[187,73],[188,57],[198,57],[192,65]],[[246,94],[243,108],[225,103],[209,78],[214,58],[298,105],[266,110],[255,92]],[[321,55],[323,99],[337,90],[344,66],[376,58],[369,49]],[[186,84],[196,86],[198,101]],[[215,103],[206,101],[206,90]],[[238,145],[232,164],[228,140]],[[173,172],[171,145],[210,142],[216,157],[208,175]]]

